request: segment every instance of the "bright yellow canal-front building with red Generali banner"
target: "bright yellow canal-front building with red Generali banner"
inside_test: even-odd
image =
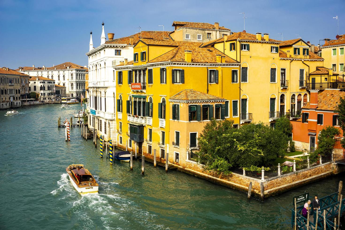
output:
[[[201,44],[140,39],[134,61],[114,66],[118,148],[185,167],[207,121],[238,126],[239,63]]]

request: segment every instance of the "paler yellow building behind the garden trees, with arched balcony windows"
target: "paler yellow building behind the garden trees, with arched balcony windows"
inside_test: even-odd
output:
[[[241,64],[238,79],[231,82],[240,88],[240,123],[252,116],[273,127],[283,115],[300,117],[302,102],[309,100],[308,73],[323,67],[323,59],[309,52],[302,39],[281,42],[263,35],[237,32],[203,47],[214,47]]]

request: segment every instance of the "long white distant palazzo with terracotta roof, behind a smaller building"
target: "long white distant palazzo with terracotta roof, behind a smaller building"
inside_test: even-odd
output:
[[[85,97],[85,74],[88,69],[86,66],[79,66],[72,62],[65,62],[54,65],[53,67],[19,67],[17,71],[28,74],[29,76],[41,76],[54,80],[56,84],[66,87],[66,96]]]

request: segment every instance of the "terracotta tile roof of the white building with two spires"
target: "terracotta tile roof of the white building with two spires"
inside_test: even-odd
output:
[[[169,33],[170,31],[141,31],[141,38],[146,38],[146,39],[161,39],[163,40],[163,34],[164,34],[164,38],[169,38],[171,40],[171,38],[169,37]],[[140,39],[140,32],[131,35],[133,36],[133,43],[137,43]],[[123,37],[123,38],[117,38],[117,39],[113,39],[113,40],[109,40],[106,41],[107,44],[127,44],[129,45],[129,37]]]

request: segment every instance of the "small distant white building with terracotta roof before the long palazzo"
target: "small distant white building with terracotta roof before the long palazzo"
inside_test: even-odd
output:
[[[30,77],[30,92],[36,92],[38,101],[48,103],[55,101],[55,80],[41,76]]]

